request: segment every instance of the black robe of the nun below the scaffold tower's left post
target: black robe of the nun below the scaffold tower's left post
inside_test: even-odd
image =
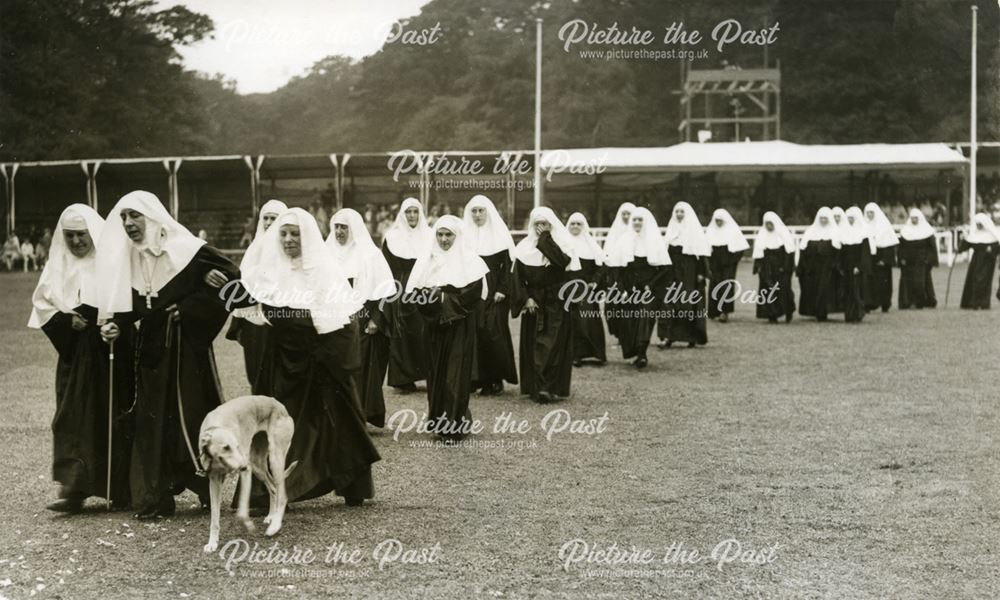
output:
[[[667,250],[673,263],[670,269],[673,287],[666,292],[668,297],[664,309],[667,314],[657,322],[656,334],[661,340],[671,342],[707,344],[705,316],[708,313],[708,295],[705,286],[710,277],[708,259],[684,254],[680,246],[667,246]]]

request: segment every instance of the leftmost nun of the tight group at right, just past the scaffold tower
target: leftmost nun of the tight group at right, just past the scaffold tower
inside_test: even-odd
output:
[[[799,241],[799,276],[802,298],[799,314],[826,321],[836,312],[836,275],[840,269],[840,227],[833,220],[833,211],[822,207]]]

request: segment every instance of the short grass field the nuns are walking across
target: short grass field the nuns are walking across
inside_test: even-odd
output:
[[[740,275],[751,285],[747,263]],[[274,540],[223,513],[223,543],[318,555],[284,575],[241,564],[232,576],[202,553],[208,516],[190,494],[154,525],[94,500],[68,518],[44,509],[55,496],[55,355],[24,326],[34,278],[0,276],[0,595],[997,597],[1000,310],[958,310],[964,275],[960,265],[947,308],[858,325],[769,325],[740,306],[730,323],[710,323],[706,347],[651,350],[641,372],[609,349],[606,366],[574,371],[573,397],[557,406],[514,390],[474,397],[487,427],[474,439],[510,447],[418,447],[430,436],[374,433],[373,502],[296,505]],[[220,340],[217,354],[227,396],[245,393],[237,346]],[[387,404],[419,413],[426,399],[390,393]],[[608,423],[548,440],[540,423],[554,408],[574,419],[607,412]],[[492,433],[504,412],[531,430]],[[423,549],[436,560],[380,569],[372,555],[389,539],[416,551],[408,558]],[[574,539],[656,560],[565,570],[560,548]],[[729,539],[748,560],[770,560],[719,568],[711,553]],[[358,550],[356,564],[324,562],[337,543]],[[705,558],[665,564],[671,545]]]

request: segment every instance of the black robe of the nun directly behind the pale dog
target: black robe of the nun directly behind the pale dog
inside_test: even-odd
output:
[[[358,396],[358,324],[319,334],[308,310],[264,307],[271,323],[271,396],[288,409],[295,434],[286,480],[288,498],[308,500],[331,491],[348,499],[375,495],[371,465],[379,460]]]

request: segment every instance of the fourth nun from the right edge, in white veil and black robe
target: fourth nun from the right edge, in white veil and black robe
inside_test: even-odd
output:
[[[840,232],[841,296],[844,322],[860,323],[865,317],[865,285],[875,255],[875,237],[857,206],[845,211]]]

